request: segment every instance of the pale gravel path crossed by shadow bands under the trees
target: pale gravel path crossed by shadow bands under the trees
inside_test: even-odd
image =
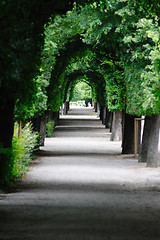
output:
[[[0,239],[160,239],[160,171],[121,155],[93,109],[72,109],[17,191],[0,194]]]

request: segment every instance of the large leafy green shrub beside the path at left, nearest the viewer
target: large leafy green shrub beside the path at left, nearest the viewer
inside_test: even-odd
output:
[[[18,137],[18,124],[15,124],[12,149],[0,148],[0,184],[8,184],[20,179],[28,169],[37,146],[38,134],[32,131],[31,123],[22,128]]]

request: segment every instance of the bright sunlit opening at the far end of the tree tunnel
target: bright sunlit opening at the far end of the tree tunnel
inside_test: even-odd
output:
[[[91,106],[92,88],[84,80],[78,81],[73,89],[73,97],[70,106]]]

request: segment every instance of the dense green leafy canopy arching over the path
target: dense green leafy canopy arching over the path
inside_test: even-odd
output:
[[[66,15],[54,15],[45,25],[47,16],[51,15],[51,6],[54,8],[51,1],[48,3],[50,10],[44,7],[43,1],[39,5],[26,1],[8,5],[3,2],[1,12],[5,22],[2,21],[1,33],[7,31],[9,42],[3,41],[1,45],[4,53],[1,56],[5,58],[1,90],[6,94],[6,88],[10,97],[15,92],[15,117],[28,119],[47,109],[58,111],[60,105],[71,98],[75,82],[80,79],[77,74],[73,79],[75,70],[81,71],[80,77],[83,75],[89,81],[94,100],[101,99],[98,92],[103,85],[101,101],[109,110],[159,114],[160,46],[156,8],[159,3],[143,0],[77,2],[79,5],[74,4]],[[22,7],[24,11],[18,21]],[[37,22],[35,12],[42,7],[46,15]],[[5,17],[9,15],[12,26],[15,23],[12,31],[11,19],[7,17],[6,21]],[[25,54],[27,52],[32,54]],[[92,60],[82,61],[84,56],[92,56]],[[72,81],[68,77],[71,74]],[[100,84],[96,83],[97,77]],[[23,84],[20,84],[22,79]]]

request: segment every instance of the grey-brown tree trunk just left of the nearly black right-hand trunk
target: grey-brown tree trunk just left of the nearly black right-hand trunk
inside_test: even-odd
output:
[[[113,113],[111,141],[122,140],[122,112],[116,111]]]

